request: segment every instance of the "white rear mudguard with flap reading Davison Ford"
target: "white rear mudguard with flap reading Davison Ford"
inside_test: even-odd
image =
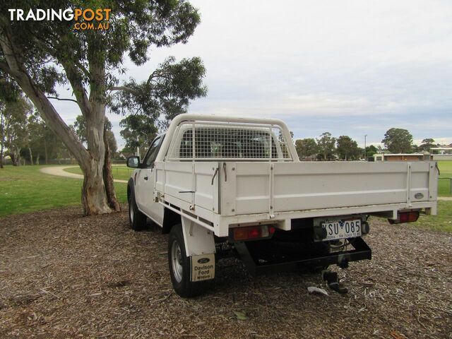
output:
[[[215,240],[213,232],[182,217],[186,256],[190,257],[191,281],[215,278]]]

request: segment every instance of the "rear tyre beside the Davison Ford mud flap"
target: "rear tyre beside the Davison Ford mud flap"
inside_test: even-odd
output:
[[[181,297],[196,297],[208,288],[208,281],[190,281],[191,263],[186,256],[182,225],[174,225],[169,232],[168,264],[174,291]]]

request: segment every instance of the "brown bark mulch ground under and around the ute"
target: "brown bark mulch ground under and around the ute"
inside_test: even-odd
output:
[[[367,242],[371,261],[334,268],[347,295],[227,260],[206,295],[181,299],[167,236],[129,230],[125,212],[2,218],[0,338],[452,338],[452,234],[374,221]]]

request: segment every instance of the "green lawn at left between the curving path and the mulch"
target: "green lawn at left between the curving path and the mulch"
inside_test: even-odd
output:
[[[0,216],[81,205],[82,180],[44,174],[42,167],[6,165],[0,169]],[[119,201],[126,202],[126,184],[114,186]]]

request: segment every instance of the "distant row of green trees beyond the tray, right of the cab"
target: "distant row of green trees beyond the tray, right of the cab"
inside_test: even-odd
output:
[[[374,145],[366,147],[366,157],[373,157],[375,153],[417,153],[429,151],[436,147],[434,139],[426,138],[421,145],[412,143],[412,135],[406,129],[388,129],[381,141],[385,148]],[[300,160],[359,160],[364,158],[364,148],[358,147],[350,136],[335,138],[329,132],[322,133],[319,138],[303,138],[295,141]]]

